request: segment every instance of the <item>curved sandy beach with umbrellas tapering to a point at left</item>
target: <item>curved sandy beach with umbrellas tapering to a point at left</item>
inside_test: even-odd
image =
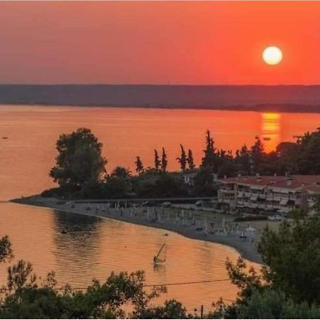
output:
[[[279,223],[274,221],[234,222],[232,215],[224,215],[201,209],[164,208],[132,206],[129,203],[99,203],[90,201],[59,201],[55,198],[33,196],[13,200],[32,206],[43,206],[70,213],[92,215],[100,218],[122,220],[127,223],[146,225],[151,228],[161,228],[179,233],[188,238],[217,242],[237,250],[242,257],[252,262],[262,263],[257,252],[257,240],[262,230],[268,225],[277,228]]]

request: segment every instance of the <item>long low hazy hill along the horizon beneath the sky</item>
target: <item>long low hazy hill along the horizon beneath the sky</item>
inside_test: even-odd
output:
[[[320,112],[320,85],[0,85],[0,104]]]

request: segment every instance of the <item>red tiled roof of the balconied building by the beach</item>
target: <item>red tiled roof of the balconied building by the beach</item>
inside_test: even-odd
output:
[[[297,189],[306,186],[320,186],[320,176],[240,176],[235,178],[221,178],[222,183],[240,183],[253,186],[275,186],[278,188]]]

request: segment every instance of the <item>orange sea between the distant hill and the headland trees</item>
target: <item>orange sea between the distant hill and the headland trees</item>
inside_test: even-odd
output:
[[[169,169],[178,169],[179,144],[203,156],[206,129],[218,148],[238,149],[255,136],[269,138],[268,150],[293,136],[320,127],[320,114],[223,112],[87,107],[0,106],[0,200],[38,193],[53,186],[48,171],[54,164],[59,134],[89,127],[104,144],[107,170],[134,169],[136,156],[153,165],[154,149],[166,148]],[[1,139],[8,137],[8,139]]]

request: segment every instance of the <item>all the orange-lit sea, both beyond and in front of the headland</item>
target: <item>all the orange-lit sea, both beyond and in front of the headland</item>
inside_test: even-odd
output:
[[[299,119],[299,121],[297,120]],[[320,114],[274,114],[209,110],[147,110],[78,107],[0,107],[0,199],[37,193],[53,183],[48,171],[54,163],[55,141],[62,132],[90,127],[104,144],[107,169],[133,166],[135,156],[151,165],[153,149],[166,148],[169,167],[178,145],[202,156],[203,137],[210,129],[218,147],[251,144],[255,135],[270,138],[267,149],[292,140],[293,135],[319,127]],[[60,230],[66,228],[67,234]],[[92,277],[105,279],[112,270],[145,270],[148,284],[225,279],[225,259],[235,260],[229,247],[190,240],[164,230],[45,208],[0,203],[0,235],[8,234],[16,258],[31,261],[44,275],[55,270],[60,284],[83,287]],[[159,246],[168,245],[168,262],[154,269],[151,259]],[[0,267],[1,283],[6,278]],[[234,299],[230,282],[169,287],[167,297],[181,300],[189,310],[219,297]]]

